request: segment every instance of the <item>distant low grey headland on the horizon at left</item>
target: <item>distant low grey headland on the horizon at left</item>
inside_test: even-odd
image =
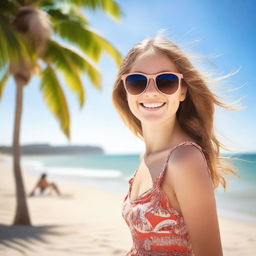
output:
[[[0,146],[0,153],[12,154],[12,147]],[[21,146],[22,155],[49,155],[49,154],[104,154],[99,146],[51,146],[48,143],[27,144]]]

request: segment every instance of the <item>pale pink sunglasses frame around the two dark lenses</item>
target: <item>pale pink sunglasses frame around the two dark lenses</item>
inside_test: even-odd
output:
[[[145,73],[141,73],[141,72],[132,72],[132,73],[127,73],[127,74],[123,74],[123,75],[121,75],[121,80],[123,81],[123,84],[124,84],[124,87],[125,87],[125,90],[126,90],[126,92],[127,93],[129,93],[129,94],[131,94],[128,90],[127,90],[127,88],[126,88],[126,78],[128,77],[128,76],[130,76],[130,75],[143,75],[143,76],[145,76],[146,78],[147,78],[147,85],[146,85],[146,87],[145,87],[145,89],[141,92],[141,93],[139,93],[139,94],[131,94],[131,95],[136,95],[136,96],[139,96],[139,95],[141,95],[142,93],[144,93],[145,92],[145,90],[148,88],[148,85],[149,85],[149,81],[150,81],[150,79],[152,78],[153,79],[153,81],[154,81],[154,86],[155,86],[155,88],[156,88],[156,90],[157,91],[159,91],[160,93],[162,93],[162,94],[165,94],[165,95],[172,95],[173,93],[175,93],[175,92],[173,92],[173,93],[171,93],[171,94],[168,94],[168,93],[164,93],[164,92],[162,92],[162,91],[160,91],[159,89],[158,89],[158,86],[157,86],[157,84],[156,84],[156,77],[157,76],[159,76],[159,75],[163,75],[163,74],[172,74],[172,75],[176,75],[178,78],[179,78],[179,85],[178,85],[178,88],[177,88],[177,90],[179,89],[179,87],[180,87],[180,84],[181,84],[181,79],[183,78],[183,74],[181,74],[181,73],[175,73],[175,72],[159,72],[159,73],[156,73],[156,74],[145,74]]]

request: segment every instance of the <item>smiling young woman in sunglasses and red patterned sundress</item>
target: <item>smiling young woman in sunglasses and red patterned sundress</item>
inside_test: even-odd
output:
[[[214,104],[221,103],[181,49],[155,37],[123,59],[113,104],[145,143],[129,180],[123,217],[132,234],[127,255],[221,256],[214,189],[235,171],[219,156]]]

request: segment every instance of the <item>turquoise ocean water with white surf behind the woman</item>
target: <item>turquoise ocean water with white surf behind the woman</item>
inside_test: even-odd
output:
[[[226,176],[226,191],[215,191],[218,214],[256,222],[256,153],[236,154],[233,160],[239,177]],[[128,179],[139,166],[138,154],[89,154],[23,156],[22,167],[32,173],[48,174],[49,180],[71,180],[125,195]]]

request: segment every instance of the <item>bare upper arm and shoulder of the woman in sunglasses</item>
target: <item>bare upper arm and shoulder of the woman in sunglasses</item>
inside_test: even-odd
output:
[[[195,147],[174,151],[167,164],[196,256],[222,256],[214,189],[203,153]]]

